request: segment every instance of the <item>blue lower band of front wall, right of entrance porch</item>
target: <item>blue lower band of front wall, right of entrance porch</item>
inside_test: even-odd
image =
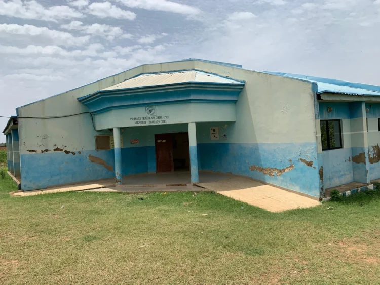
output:
[[[316,143],[204,143],[198,149],[202,170],[244,175],[319,197]]]

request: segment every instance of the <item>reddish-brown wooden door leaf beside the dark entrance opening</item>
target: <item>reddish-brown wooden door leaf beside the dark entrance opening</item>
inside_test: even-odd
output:
[[[174,171],[172,134],[156,134],[155,145],[157,172]]]

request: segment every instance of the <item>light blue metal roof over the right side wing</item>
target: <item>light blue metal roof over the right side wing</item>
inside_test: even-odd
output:
[[[271,72],[263,71],[264,73],[283,76],[287,78],[302,79],[309,82],[316,83],[318,85],[318,94],[320,93],[339,93],[339,94],[349,94],[349,95],[369,95],[369,96],[380,96],[380,86],[362,84],[356,82],[348,82],[343,80],[329,79],[323,77],[315,77],[301,74],[293,73],[283,73],[283,72]]]

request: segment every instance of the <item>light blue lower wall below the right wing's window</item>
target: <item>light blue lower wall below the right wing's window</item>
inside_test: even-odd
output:
[[[354,181],[351,148],[323,151],[322,159],[325,189]]]

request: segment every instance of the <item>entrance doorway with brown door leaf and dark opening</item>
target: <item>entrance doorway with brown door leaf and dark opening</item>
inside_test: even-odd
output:
[[[190,170],[188,133],[155,134],[157,172]]]

